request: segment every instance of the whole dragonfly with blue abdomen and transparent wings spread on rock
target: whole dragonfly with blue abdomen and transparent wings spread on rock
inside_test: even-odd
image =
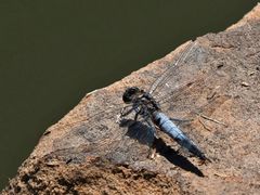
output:
[[[84,145],[87,150],[83,153],[88,155],[100,154],[117,162],[128,159],[134,161],[133,157],[142,157],[136,152],[150,151],[143,150],[141,145],[148,145],[151,148],[158,133],[162,132],[192,155],[207,160],[205,153],[181,128],[180,123],[186,120],[170,117],[169,114],[202,112],[200,105],[208,103],[200,96],[205,98],[206,93],[220,90],[214,87],[223,83],[223,80],[227,81],[227,77],[216,74],[214,67],[205,65],[208,63],[208,52],[197,41],[188,41],[177,50],[178,55],[174,54],[173,58],[166,56],[173,63],[166,62],[159,77],[153,77],[153,73],[150,73],[150,79],[153,80],[148,87],[127,87],[125,92],[118,90],[112,94],[109,90],[108,93],[104,92],[104,89],[87,95],[86,99],[93,96],[101,104],[92,105],[87,102],[79,106],[80,115],[75,115],[75,122],[61,125],[63,128],[68,127],[68,131],[54,141],[54,148],[58,151]],[[82,110],[88,110],[91,115],[84,116]],[[129,117],[133,117],[133,123],[138,123],[134,131],[118,126],[118,122]],[[133,139],[141,144],[136,144]]]

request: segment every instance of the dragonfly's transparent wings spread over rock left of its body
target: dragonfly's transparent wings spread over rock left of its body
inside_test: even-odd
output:
[[[115,100],[118,102],[117,98]],[[122,103],[109,102],[91,116],[76,117],[77,121],[62,125],[61,131],[65,133],[54,141],[54,151],[83,146],[86,156],[106,156],[116,162],[135,160],[136,156],[145,159],[154,139],[152,131],[144,123],[132,120],[117,123],[117,115],[122,107]]]

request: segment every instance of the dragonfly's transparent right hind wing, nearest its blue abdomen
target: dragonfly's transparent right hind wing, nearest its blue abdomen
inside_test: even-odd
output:
[[[174,116],[191,116],[205,113],[208,116],[226,101],[224,88],[230,80],[229,75],[210,74],[197,78],[191,86],[179,88],[159,100],[162,110]],[[210,108],[211,107],[211,108]]]

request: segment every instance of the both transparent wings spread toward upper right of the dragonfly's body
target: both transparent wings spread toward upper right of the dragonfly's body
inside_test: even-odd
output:
[[[221,53],[199,42],[187,42],[179,51],[174,65],[169,65],[158,78],[160,82],[155,81],[152,88],[153,96],[162,110],[182,117],[187,113],[207,112],[205,107],[209,104],[223,103],[230,76],[222,65],[218,65],[221,61],[216,57],[221,58]],[[214,57],[211,57],[211,52],[214,52]]]

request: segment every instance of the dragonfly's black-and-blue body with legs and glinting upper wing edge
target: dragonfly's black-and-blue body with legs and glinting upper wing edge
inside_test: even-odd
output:
[[[162,113],[159,103],[153,98],[154,91],[159,88],[161,83],[167,84],[167,79],[170,78],[170,74],[173,68],[180,63],[185,61],[192,49],[196,43],[191,42],[186,46],[180,58],[169,69],[167,69],[150,88],[148,91],[144,91],[138,87],[129,87],[122,94],[122,101],[126,104],[119,115],[118,121],[131,113],[134,113],[134,121],[141,117],[143,121],[151,128],[153,136],[157,138],[156,127],[170,138],[172,138],[179,145],[186,148],[190,153],[198,157],[200,160],[209,160],[202,150],[183,133],[183,131],[176,125],[176,122],[182,122],[183,119],[170,118]]]

